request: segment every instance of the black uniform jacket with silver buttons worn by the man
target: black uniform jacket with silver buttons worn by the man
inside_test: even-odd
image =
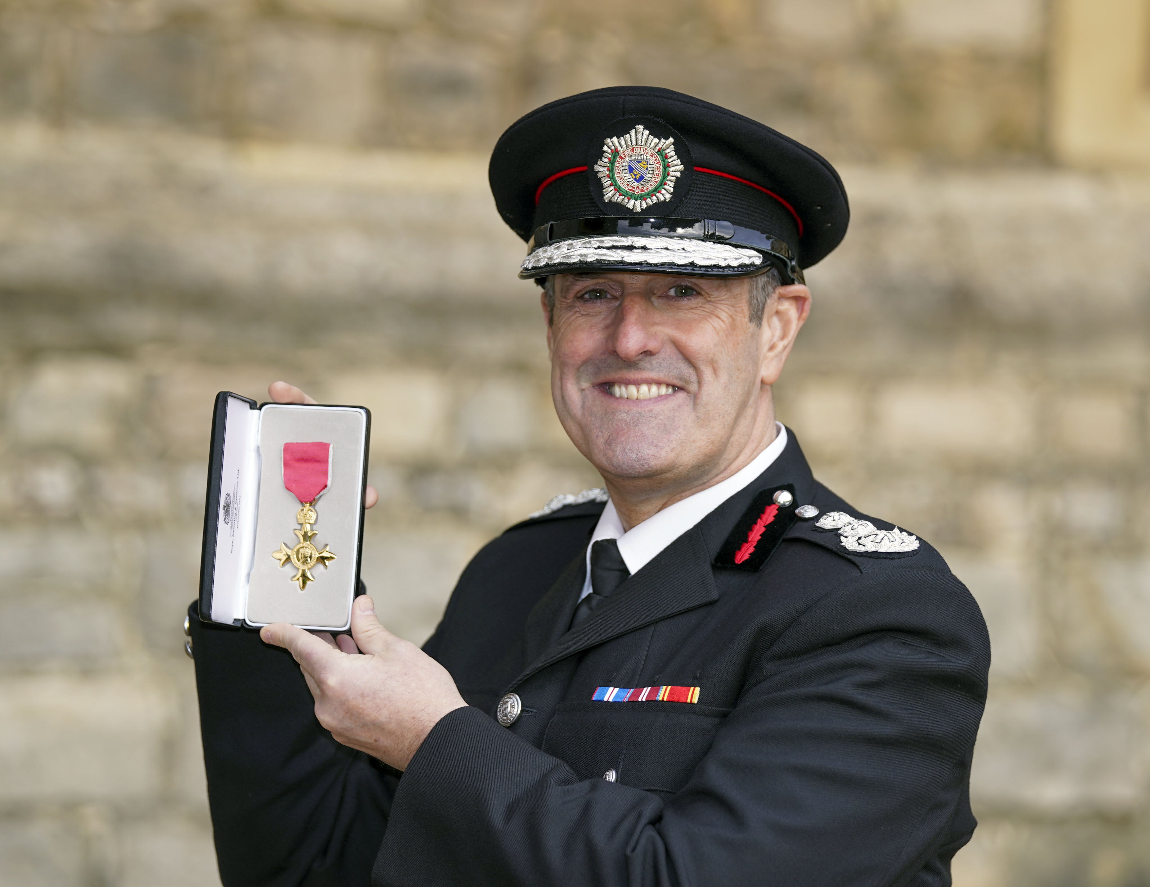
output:
[[[975,826],[982,616],[926,543],[856,555],[815,520],[758,571],[714,566],[781,484],[859,516],[792,437],[570,631],[603,506],[490,542],[425,646],[470,707],[401,778],[319,725],[286,653],[193,618],[224,885],[950,884]],[[660,685],[699,687],[698,702],[592,700]],[[503,727],[508,692],[523,710]]]

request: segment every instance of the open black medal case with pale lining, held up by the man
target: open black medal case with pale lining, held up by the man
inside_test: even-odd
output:
[[[365,407],[256,404],[227,391],[216,395],[201,619],[347,631],[360,587],[370,429]],[[283,445],[297,441],[331,445],[328,488],[315,500],[309,525],[298,523],[309,515],[284,486]],[[294,560],[285,556],[289,550]],[[317,550],[325,552],[319,560]]]

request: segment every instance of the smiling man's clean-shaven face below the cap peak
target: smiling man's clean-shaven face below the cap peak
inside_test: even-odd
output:
[[[770,439],[769,386],[808,294],[782,287],[759,326],[750,286],[747,278],[653,273],[557,278],[552,395],[575,446],[605,478],[649,479],[652,492],[689,488]]]

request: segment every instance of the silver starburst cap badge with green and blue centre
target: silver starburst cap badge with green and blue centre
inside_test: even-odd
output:
[[[628,209],[646,209],[670,200],[683,164],[675,153],[675,139],[657,139],[642,125],[626,136],[603,142],[603,157],[595,164],[603,183],[603,199]]]

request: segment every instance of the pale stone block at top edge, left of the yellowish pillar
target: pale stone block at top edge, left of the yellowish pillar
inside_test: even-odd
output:
[[[999,52],[1036,48],[1042,0],[902,0],[906,37],[930,47],[977,47]]]

